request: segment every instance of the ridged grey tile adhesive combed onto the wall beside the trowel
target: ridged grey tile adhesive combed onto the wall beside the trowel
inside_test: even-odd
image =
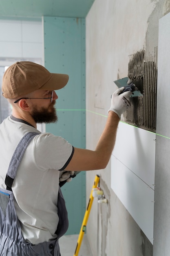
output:
[[[155,56],[146,58],[146,61],[144,50],[130,55],[128,77],[144,96],[130,98],[131,107],[124,116],[124,121],[156,132],[157,48],[155,48]]]

